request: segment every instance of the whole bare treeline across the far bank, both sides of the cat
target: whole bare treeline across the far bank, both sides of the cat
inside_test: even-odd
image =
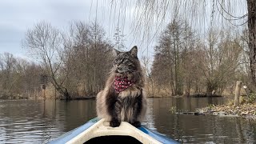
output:
[[[247,31],[211,29],[205,38],[186,21],[170,22],[154,46],[154,60],[143,56],[149,96],[232,94],[234,82],[249,84]],[[110,42],[97,23],[71,22],[59,30],[39,22],[27,30],[22,46],[36,61],[0,55],[0,98],[88,98],[104,88],[113,48],[124,47],[124,35]]]

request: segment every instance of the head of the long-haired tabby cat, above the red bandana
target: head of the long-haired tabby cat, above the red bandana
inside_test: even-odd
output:
[[[130,74],[139,69],[138,48],[134,46],[130,51],[121,52],[115,50],[116,58],[114,58],[114,72],[118,74]]]

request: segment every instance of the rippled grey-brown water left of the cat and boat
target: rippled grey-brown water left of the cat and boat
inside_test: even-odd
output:
[[[0,101],[0,143],[48,142],[94,118],[94,107],[94,100]]]

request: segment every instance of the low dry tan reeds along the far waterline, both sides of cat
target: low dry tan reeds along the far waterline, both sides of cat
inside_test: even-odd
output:
[[[216,97],[234,97],[235,90],[227,91],[224,90],[223,94],[214,94],[214,92],[210,95],[204,94],[196,94],[194,90],[190,90],[190,95],[187,94],[177,94],[172,95],[170,94],[170,90],[159,90],[155,88],[152,90],[150,84],[146,85],[146,90],[148,91],[147,98],[181,98],[181,97],[190,97],[190,98],[216,98]],[[246,89],[241,88],[240,94],[242,97],[248,97]],[[77,90],[77,93],[72,96],[72,98],[68,100],[82,100],[82,99],[93,99],[96,98],[96,94],[85,94],[82,88]],[[58,90],[54,88],[51,84],[48,84],[46,87],[41,86],[39,90],[34,90],[30,93],[25,94],[8,94],[0,93],[0,99],[59,99],[59,100],[67,100],[65,97],[62,97],[62,94],[58,93]]]

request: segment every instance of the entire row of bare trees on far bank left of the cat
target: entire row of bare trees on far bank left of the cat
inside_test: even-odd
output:
[[[22,46],[34,63],[12,54],[0,59],[0,97],[42,96],[46,98],[85,98],[104,86],[113,59],[113,44],[97,23],[72,22],[61,31],[47,22],[27,30]]]

